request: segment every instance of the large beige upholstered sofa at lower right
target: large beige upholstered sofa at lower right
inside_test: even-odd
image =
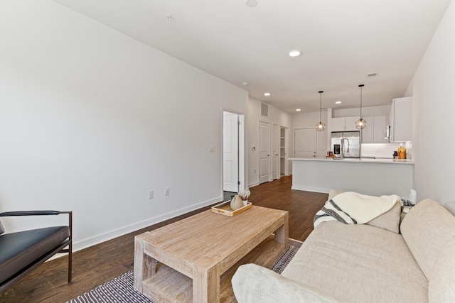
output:
[[[455,302],[455,216],[430,199],[401,224],[391,211],[375,226],[320,224],[282,275],[242,265],[232,277],[237,301]]]

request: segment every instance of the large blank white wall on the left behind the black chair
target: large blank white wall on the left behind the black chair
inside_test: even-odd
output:
[[[0,28],[0,211],[73,211],[77,250],[222,201],[245,90],[53,1],[1,1]]]

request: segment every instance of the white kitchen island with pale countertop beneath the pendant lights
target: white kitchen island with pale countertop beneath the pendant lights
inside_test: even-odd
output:
[[[375,158],[292,158],[291,189],[328,193],[397,194],[409,199],[414,188],[412,160]]]

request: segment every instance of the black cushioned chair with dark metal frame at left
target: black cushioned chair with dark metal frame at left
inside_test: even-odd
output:
[[[0,216],[59,214],[68,214],[68,226],[51,226],[16,233],[4,233],[4,228],[0,222],[0,292],[11,287],[21,277],[37,268],[55,253],[68,253],[68,282],[71,282],[72,211],[9,211],[1,213]]]

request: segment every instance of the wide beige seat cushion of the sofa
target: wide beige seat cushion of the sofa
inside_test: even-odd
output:
[[[282,275],[347,302],[428,302],[402,236],[365,224],[320,224]]]

